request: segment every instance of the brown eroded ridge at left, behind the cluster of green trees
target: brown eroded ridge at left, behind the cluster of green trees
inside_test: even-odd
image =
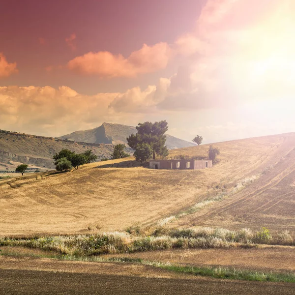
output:
[[[112,145],[76,143],[0,130],[0,171],[15,170],[14,162],[31,164],[32,167],[54,168],[52,157],[62,148],[78,153],[92,149],[99,159],[109,157],[113,152]]]

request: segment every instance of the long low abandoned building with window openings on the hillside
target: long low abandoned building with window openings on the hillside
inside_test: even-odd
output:
[[[207,166],[206,167],[206,162]],[[212,167],[212,160],[150,160],[151,169],[194,170]]]

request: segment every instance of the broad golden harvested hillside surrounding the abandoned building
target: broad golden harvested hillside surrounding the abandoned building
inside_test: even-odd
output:
[[[120,165],[113,165],[120,162],[114,160],[69,173],[2,181],[0,235],[93,233],[163,224],[166,217],[196,204],[205,205],[170,218],[171,226],[266,226],[294,232],[295,133],[214,146],[220,149],[220,162],[206,170],[151,170],[123,159]],[[207,149],[182,148],[171,156],[200,156]],[[219,195],[223,197],[218,201],[204,203]]]

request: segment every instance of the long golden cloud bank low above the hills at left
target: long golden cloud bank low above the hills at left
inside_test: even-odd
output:
[[[62,135],[109,120],[118,93],[84,95],[69,87],[0,87],[2,129]],[[114,118],[113,118],[114,120]]]

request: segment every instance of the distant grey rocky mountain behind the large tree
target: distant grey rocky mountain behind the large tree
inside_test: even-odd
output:
[[[136,132],[137,130],[134,126],[103,123],[101,126],[94,129],[75,131],[57,138],[75,142],[117,145],[127,144],[126,138],[132,133]],[[193,143],[187,142],[169,134],[167,134],[166,145],[169,149],[195,146]]]

